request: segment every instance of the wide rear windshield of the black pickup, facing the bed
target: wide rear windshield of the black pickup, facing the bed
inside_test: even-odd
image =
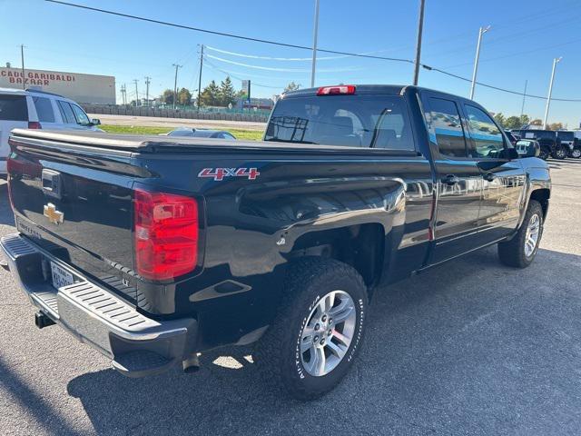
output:
[[[274,108],[266,141],[415,150],[408,107],[396,95],[289,97]]]

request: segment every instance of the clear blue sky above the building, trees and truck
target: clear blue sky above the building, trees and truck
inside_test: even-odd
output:
[[[101,0],[82,5],[133,15],[143,15],[216,31],[311,45],[314,0]],[[416,0],[320,0],[319,46],[353,53],[373,53],[413,59],[418,21]],[[426,0],[422,62],[453,74],[471,77],[478,27],[491,25],[484,35],[478,81],[546,95],[554,57],[557,65],[553,96],[581,99],[581,1],[554,0]],[[25,16],[23,20],[19,16]],[[119,87],[133,79],[144,93],[144,76],[152,76],[151,94],[173,86],[172,64],[183,67],[178,86],[196,89],[199,45],[250,56],[309,58],[306,50],[264,45],[207,35],[126,18],[103,15],[41,0],[0,0],[0,62],[20,64],[24,44],[26,67],[108,74]],[[253,96],[278,94],[290,81],[310,84],[310,62],[241,57],[207,50],[202,86],[222,80],[229,72],[250,78]],[[222,59],[216,59],[216,57]],[[320,54],[316,85],[409,84],[413,65],[357,57]],[[228,62],[225,62],[228,61]],[[235,64],[232,64],[235,63]],[[251,66],[247,66],[251,65]],[[221,71],[222,70],[222,71]],[[281,71],[287,70],[287,71]],[[422,70],[419,84],[454,94],[468,95],[469,84]],[[132,95],[130,94],[130,97]],[[520,114],[522,97],[477,87],[475,99],[491,112]],[[525,113],[544,114],[544,101],[527,98]],[[569,127],[581,122],[581,103],[553,102],[549,122]]]

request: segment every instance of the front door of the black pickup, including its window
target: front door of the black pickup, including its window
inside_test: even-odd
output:
[[[468,152],[478,163],[484,182],[478,216],[478,242],[494,242],[517,228],[526,174],[518,160],[507,159],[507,140],[477,104],[465,103]]]

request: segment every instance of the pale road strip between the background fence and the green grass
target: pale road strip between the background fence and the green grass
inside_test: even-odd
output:
[[[98,118],[103,124],[133,125],[148,127],[205,127],[217,129],[264,130],[266,123],[250,121],[192,120],[190,118],[163,118],[161,116],[131,116],[88,114],[89,118]]]

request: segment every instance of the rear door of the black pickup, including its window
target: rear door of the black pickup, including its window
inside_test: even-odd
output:
[[[433,264],[466,253],[478,245],[483,178],[477,162],[468,155],[466,127],[454,97],[422,93],[422,102],[438,174],[435,247],[429,261]]]

